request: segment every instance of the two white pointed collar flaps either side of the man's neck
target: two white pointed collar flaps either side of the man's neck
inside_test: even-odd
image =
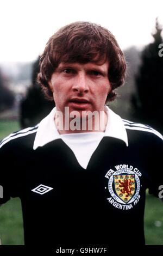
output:
[[[57,127],[54,123],[54,114],[56,107],[54,107],[45,118],[43,118],[38,126],[33,149],[43,147],[43,145],[61,138]],[[121,117],[115,114],[109,107],[106,106],[108,113],[108,123],[104,132],[104,137],[113,137],[124,141],[128,147],[127,132],[124,127]]]

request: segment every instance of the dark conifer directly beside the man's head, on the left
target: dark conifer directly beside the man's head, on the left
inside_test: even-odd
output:
[[[36,78],[39,73],[39,59],[33,64],[32,85],[29,87],[27,96],[20,105],[20,123],[22,128],[34,126],[41,121],[55,106],[54,101],[45,98]]]

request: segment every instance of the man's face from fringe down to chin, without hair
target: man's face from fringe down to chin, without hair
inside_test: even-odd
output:
[[[111,90],[108,69],[108,62],[60,63],[49,82],[57,110],[103,111]]]

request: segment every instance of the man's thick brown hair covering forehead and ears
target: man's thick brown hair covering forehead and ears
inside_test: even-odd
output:
[[[48,99],[53,93],[48,82],[61,62],[104,62],[108,60],[108,78],[111,92],[106,101],[114,100],[114,89],[124,82],[126,61],[114,35],[108,29],[91,22],[73,22],[61,27],[49,38],[40,57],[40,73],[37,80]]]

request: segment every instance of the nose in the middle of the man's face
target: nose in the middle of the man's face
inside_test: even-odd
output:
[[[85,74],[79,74],[73,84],[73,91],[79,93],[87,93],[89,84]]]

